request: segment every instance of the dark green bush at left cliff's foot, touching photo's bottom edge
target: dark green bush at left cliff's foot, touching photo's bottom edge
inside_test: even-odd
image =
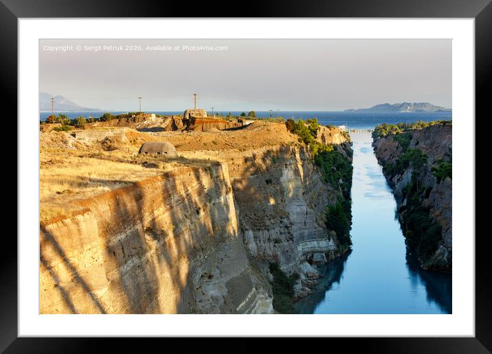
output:
[[[294,307],[292,298],[294,296],[294,285],[299,279],[299,274],[287,276],[278,263],[270,263],[270,273],[273,276],[271,287],[273,289],[273,309],[280,314],[293,314]]]

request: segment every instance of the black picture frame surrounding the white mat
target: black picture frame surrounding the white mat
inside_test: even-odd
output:
[[[236,6],[234,10],[233,5]],[[377,17],[377,18],[473,18],[476,25],[476,116],[490,115],[489,92],[492,86],[492,4],[491,0],[356,0],[356,1],[248,1],[242,4],[184,1],[150,2],[146,0],[0,0],[1,86],[3,99],[14,107],[17,117],[17,20],[43,17]],[[220,10],[219,10],[220,9]],[[488,113],[488,114],[487,114]],[[470,117],[470,119],[476,119]],[[18,129],[19,127],[17,127]],[[483,132],[482,132],[483,134]],[[16,137],[16,134],[14,134]],[[479,136],[476,135],[476,140]],[[475,142],[473,142],[475,144]],[[476,176],[478,176],[476,174]],[[14,183],[17,176],[9,176]],[[481,196],[480,198],[484,198]],[[12,208],[13,209],[13,208]],[[16,209],[17,210],[17,209]],[[476,218],[477,220],[477,218]],[[473,237],[475,235],[467,235]],[[0,257],[0,351],[5,353],[91,353],[102,346],[90,338],[17,338],[17,243],[3,238]],[[492,351],[492,265],[488,233],[476,233],[476,336],[475,338],[327,338],[322,346],[350,351],[399,353],[490,353]],[[168,339],[167,339],[168,340]],[[245,340],[245,339],[242,339]],[[329,342],[326,342],[329,341]],[[192,344],[193,341],[189,343]],[[315,341],[319,342],[319,341]],[[315,343],[313,342],[313,343]],[[284,343],[290,345],[289,340]],[[172,344],[171,344],[172,345]],[[310,344],[312,345],[312,344]],[[112,351],[128,349],[128,339],[111,339]],[[236,346],[252,351],[256,345]]]

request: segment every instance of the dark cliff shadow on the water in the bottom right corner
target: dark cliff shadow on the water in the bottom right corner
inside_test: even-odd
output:
[[[427,292],[427,301],[436,303],[444,312],[451,314],[453,311],[451,274],[423,270],[418,263],[416,252],[412,252],[409,247],[407,247],[405,259],[412,284],[423,283]]]

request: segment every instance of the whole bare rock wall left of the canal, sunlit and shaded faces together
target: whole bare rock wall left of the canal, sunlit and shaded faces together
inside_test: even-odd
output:
[[[286,143],[183,144],[186,165],[76,200],[69,215],[43,222],[41,313],[269,314],[270,262],[299,275],[295,296],[309,294],[319,276],[311,264],[346,252],[324,223],[341,191],[283,124],[265,127],[247,129]],[[339,130],[324,133],[323,143],[350,152]]]

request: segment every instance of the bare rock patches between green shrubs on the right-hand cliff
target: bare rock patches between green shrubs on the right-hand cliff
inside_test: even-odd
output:
[[[436,124],[413,130],[407,134],[412,136],[408,149],[418,149],[427,155],[427,163],[416,174],[420,188],[425,187],[421,205],[429,209],[429,215],[442,228],[442,237],[434,255],[426,261],[421,260],[421,266],[425,269],[450,272],[452,263],[452,181],[449,177],[438,181],[431,168],[433,165],[436,166],[438,161],[451,162],[452,126],[451,124]],[[395,163],[397,158],[401,158],[405,150],[392,135],[374,139],[372,146],[379,163],[383,166],[388,163]],[[408,202],[405,197],[405,187],[412,184],[412,175],[415,170],[412,163],[394,176],[390,176],[383,169],[390,186],[394,190],[399,210],[402,209],[401,207],[405,207]],[[404,215],[400,213],[400,217],[404,217]]]

